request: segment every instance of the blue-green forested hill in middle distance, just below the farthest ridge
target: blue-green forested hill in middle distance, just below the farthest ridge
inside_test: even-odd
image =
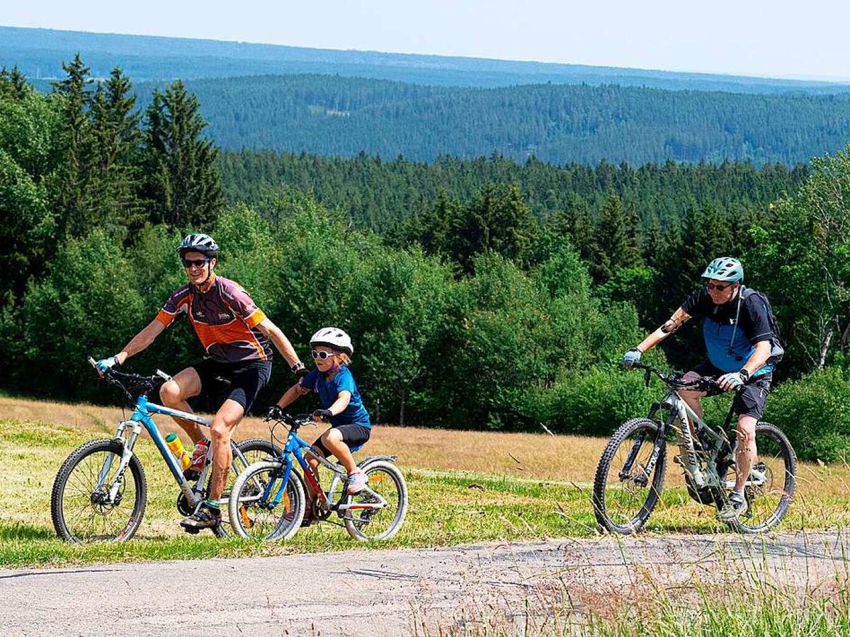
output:
[[[542,84],[425,87],[338,76],[194,80],[223,149],[399,155],[496,152],[555,164],[607,160],[809,161],[850,139],[850,93],[744,95]]]

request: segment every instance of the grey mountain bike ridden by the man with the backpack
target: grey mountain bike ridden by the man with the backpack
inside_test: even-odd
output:
[[[712,378],[683,381],[681,375],[665,374],[647,365],[644,382],[655,375],[669,391],[653,403],[647,418],[626,420],[599,459],[593,481],[593,512],[599,525],[614,533],[637,533],[655,509],[664,488],[667,438],[675,435],[680,454],[673,461],[682,466],[689,496],[701,505],[721,509],[735,483],[734,444],[726,431],[734,415],[729,408],[723,427],[706,424],[679,390],[707,392],[717,389]],[[734,397],[738,400],[738,396]],[[763,533],[785,517],[796,487],[796,454],[779,427],[756,425],[758,457],[745,485],[747,509],[728,525],[740,533]]]

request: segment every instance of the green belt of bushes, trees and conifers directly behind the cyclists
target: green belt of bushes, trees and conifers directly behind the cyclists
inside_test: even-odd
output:
[[[121,70],[93,82],[77,58],[65,73],[49,94],[0,73],[6,391],[108,399],[85,357],[116,352],[150,321],[184,283],[180,236],[206,230],[222,245],[218,272],[302,357],[320,325],[351,333],[377,421],[608,434],[659,391],[622,369],[622,353],[706,262],[734,255],[788,345],[768,419],[803,458],[850,451],[850,149],[794,169],[219,156],[182,82],[138,110]],[[281,165],[305,181],[280,179]],[[398,223],[395,204],[374,219],[346,204],[405,190],[408,170],[420,177]],[[689,325],[649,360],[684,367],[700,351]],[[128,366],[174,372],[200,354],[177,324]],[[291,382],[275,367],[258,407]]]

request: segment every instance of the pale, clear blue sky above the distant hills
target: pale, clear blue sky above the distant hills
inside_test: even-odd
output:
[[[0,25],[734,75],[850,79],[850,3],[9,0]]]

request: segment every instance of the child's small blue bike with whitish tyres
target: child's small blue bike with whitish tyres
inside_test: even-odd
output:
[[[288,539],[302,526],[307,499],[303,479],[309,481],[316,494],[310,507],[313,521],[331,521],[336,514],[352,538],[359,540],[388,539],[398,533],[407,513],[407,484],[395,465],[395,456],[376,455],[360,461],[367,486],[354,495],[346,491],[346,476],[342,465],[335,465],[316,454],[309,443],[298,437],[297,431],[313,422],[309,414],[269,416],[275,427],[289,430],[286,443],[274,460],[259,461],[242,471],[233,485],[229,500],[229,518],[235,533],[243,538]],[[356,449],[352,449],[353,451]],[[320,487],[319,477],[304,456],[318,460],[331,471],[327,491]],[[292,458],[297,459],[304,478],[293,470]]]

